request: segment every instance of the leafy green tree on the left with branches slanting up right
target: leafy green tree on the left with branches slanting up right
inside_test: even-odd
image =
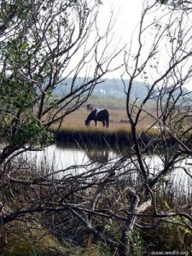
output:
[[[27,172],[27,163],[21,165],[15,157],[53,143],[50,130],[57,131],[63,119],[87,101],[104,74],[119,68],[113,60],[121,49],[108,48],[113,20],[100,32],[99,6],[100,1],[86,0],[1,1],[1,188],[8,183],[31,187],[34,177]],[[69,76],[73,79],[66,84]],[[21,194],[25,190],[20,189]],[[2,206],[7,207],[3,190],[1,195]],[[18,203],[17,211],[12,211],[1,213],[1,226],[23,216],[23,211],[44,210],[35,201],[25,209]]]

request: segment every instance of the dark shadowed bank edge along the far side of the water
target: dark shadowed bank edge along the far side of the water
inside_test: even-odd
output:
[[[151,129],[150,131],[137,131],[138,143],[144,147],[151,138],[158,137],[158,131]],[[112,148],[123,151],[133,146],[131,137],[131,129],[110,130],[102,128],[83,128],[83,129],[62,129],[55,134],[55,142],[59,146],[79,145],[79,148]],[[162,144],[162,143],[161,143]],[[166,145],[172,146],[174,141],[172,138],[167,139]],[[157,145],[153,143],[152,146]],[[160,146],[160,145],[159,145]],[[151,148],[153,149],[153,148]],[[160,149],[160,148],[159,148]]]

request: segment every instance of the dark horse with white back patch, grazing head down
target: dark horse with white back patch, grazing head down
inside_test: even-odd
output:
[[[108,109],[95,109],[93,110],[85,120],[85,125],[89,126],[90,121],[94,120],[97,126],[97,121],[102,122],[103,126],[109,127],[109,112]]]

